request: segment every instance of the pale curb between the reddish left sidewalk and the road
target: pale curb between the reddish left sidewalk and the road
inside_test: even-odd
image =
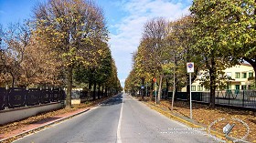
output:
[[[45,124],[45,125],[39,126],[39,127],[37,127],[37,128],[32,128],[32,129],[29,129],[29,130],[24,131],[24,132],[22,132],[22,133],[19,133],[19,134],[17,134],[17,135],[14,135],[14,136],[12,136],[12,137],[4,138],[4,139],[0,140],[0,142],[7,141],[8,139],[11,139],[11,138],[17,138],[17,137],[26,136],[27,134],[29,134],[29,132],[41,130],[41,129],[47,127],[47,126],[57,124],[57,123],[59,123],[59,122],[61,122],[61,121],[64,121],[64,120],[70,118],[70,117],[75,117],[75,116],[78,116],[78,115],[80,115],[80,114],[82,114],[82,113],[84,113],[84,112],[87,112],[87,111],[89,111],[90,109],[91,109],[91,108],[86,108],[85,110],[80,111],[79,113],[75,113],[75,114],[73,114],[73,115],[70,115],[69,117],[62,117],[62,118],[59,118],[59,119],[57,119],[57,120],[51,121],[51,122],[49,122],[49,123],[47,123],[47,124]]]

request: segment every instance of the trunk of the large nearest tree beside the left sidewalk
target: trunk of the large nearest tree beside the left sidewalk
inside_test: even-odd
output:
[[[73,67],[68,66],[68,87],[67,87],[67,97],[66,97],[66,108],[71,107],[71,91],[72,91],[72,71]]]

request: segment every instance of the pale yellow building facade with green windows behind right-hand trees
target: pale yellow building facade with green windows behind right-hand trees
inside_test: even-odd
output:
[[[225,75],[229,77],[227,82],[227,89],[229,90],[246,90],[251,88],[251,81],[249,78],[255,77],[253,67],[250,64],[240,64],[232,66],[223,70]],[[199,72],[200,73],[200,72]],[[192,92],[205,92],[207,88],[201,86],[200,79],[202,76],[198,75],[197,80],[192,84]],[[187,88],[183,87],[182,92],[186,92]]]

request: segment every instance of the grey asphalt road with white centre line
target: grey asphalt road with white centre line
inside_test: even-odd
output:
[[[90,111],[16,140],[16,143],[215,142],[170,120],[126,94]]]

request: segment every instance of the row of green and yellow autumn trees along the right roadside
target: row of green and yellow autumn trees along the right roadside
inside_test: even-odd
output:
[[[172,22],[164,18],[149,20],[133,55],[125,90],[134,93],[147,85],[152,99],[156,77],[159,94],[162,86],[173,91],[187,86],[189,100],[186,63],[194,62],[192,82],[202,74],[202,86],[210,90],[209,106],[214,107],[215,91],[225,88],[228,78],[223,69],[246,61],[256,72],[255,5],[255,0],[194,0],[190,15]]]

